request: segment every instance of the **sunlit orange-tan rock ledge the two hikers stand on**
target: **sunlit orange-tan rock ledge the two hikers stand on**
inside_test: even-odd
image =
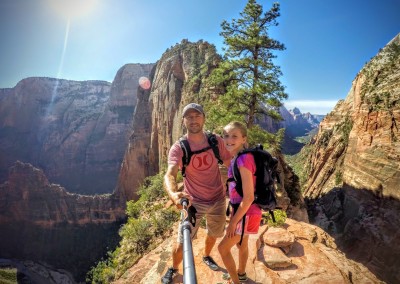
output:
[[[221,283],[226,270],[217,249],[211,256],[221,266],[219,270],[212,271],[202,262],[205,234],[200,228],[199,237],[193,241],[197,280],[204,284]],[[174,236],[113,283],[159,283],[171,265]],[[232,252],[237,264],[236,247]],[[258,235],[251,236],[246,272],[249,277],[246,283],[382,283],[364,265],[347,259],[338,251],[334,239],[323,230],[291,219],[279,229],[263,225]],[[174,283],[182,283],[182,265],[178,273]]]

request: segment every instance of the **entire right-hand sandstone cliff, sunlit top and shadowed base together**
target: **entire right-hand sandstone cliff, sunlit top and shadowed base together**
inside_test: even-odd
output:
[[[389,283],[400,281],[399,125],[400,34],[321,122],[308,146],[304,192],[313,221]]]

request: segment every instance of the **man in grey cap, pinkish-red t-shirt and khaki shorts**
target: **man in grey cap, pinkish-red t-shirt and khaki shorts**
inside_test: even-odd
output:
[[[189,142],[192,152],[209,147],[206,133],[203,131],[205,114],[203,107],[196,103],[190,103],[183,109],[183,125],[187,133],[186,139]],[[225,165],[229,165],[231,156],[226,150],[221,137],[217,136],[220,158]],[[184,190],[178,191],[176,177],[178,170],[182,169],[183,151],[179,141],[175,142],[168,155],[168,169],[164,176],[164,188],[170,199],[178,208],[182,208],[180,200],[183,197],[189,199],[189,203],[196,209],[196,225],[192,228],[191,238],[196,236],[200,226],[200,220],[206,217],[207,237],[204,245],[203,262],[212,270],[217,270],[218,265],[210,256],[211,250],[218,237],[222,237],[225,228],[225,190],[221,181],[221,174],[218,161],[213,150],[193,154],[189,165],[185,168]],[[172,267],[161,278],[164,284],[172,283],[173,277],[177,274],[178,266],[182,262],[183,236],[181,226],[178,230],[178,242],[172,249]]]

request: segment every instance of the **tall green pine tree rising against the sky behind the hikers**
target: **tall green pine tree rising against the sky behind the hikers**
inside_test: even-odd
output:
[[[222,85],[225,93],[211,107],[211,123],[239,119],[251,129],[260,114],[280,119],[278,108],[287,94],[279,80],[282,72],[273,59],[274,52],[285,46],[268,34],[270,27],[278,25],[279,9],[279,3],[274,3],[263,13],[261,5],[249,0],[241,18],[222,22],[224,60],[214,70],[211,81]]]

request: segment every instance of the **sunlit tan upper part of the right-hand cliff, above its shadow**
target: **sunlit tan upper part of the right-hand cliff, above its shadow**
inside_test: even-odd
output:
[[[357,75],[313,141],[305,194],[346,183],[400,199],[400,37]]]

